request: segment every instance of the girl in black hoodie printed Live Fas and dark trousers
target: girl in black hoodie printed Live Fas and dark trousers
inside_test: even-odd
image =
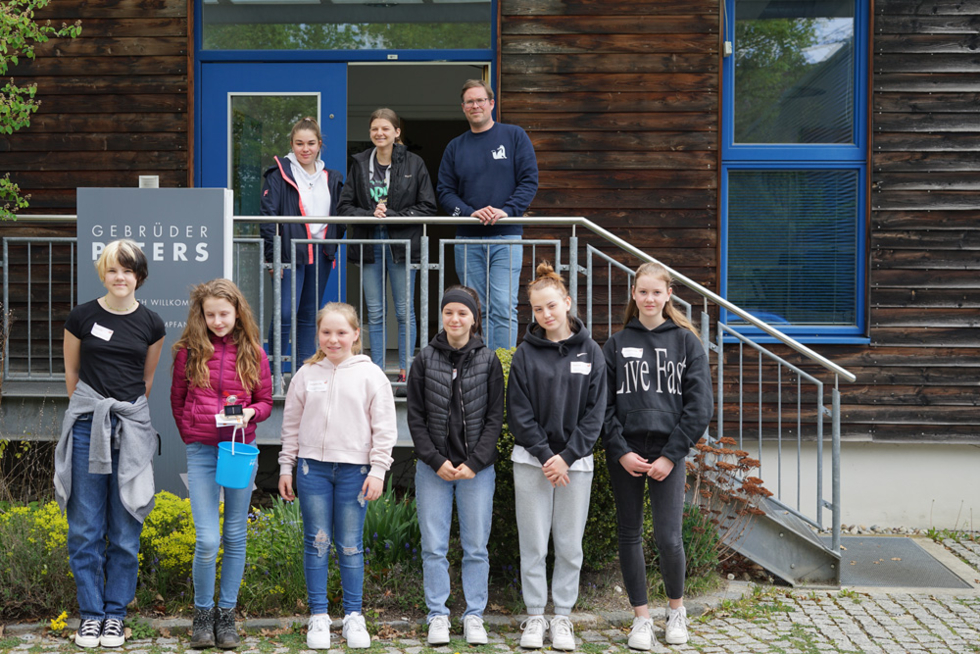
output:
[[[624,329],[602,351],[608,398],[603,443],[619,523],[619,562],[636,617],[633,649],[653,646],[643,560],[643,492],[649,489],[660,571],[669,606],[666,641],[687,642],[684,609],[684,459],[713,413],[711,372],[697,332],[671,302],[670,273],[636,271]]]

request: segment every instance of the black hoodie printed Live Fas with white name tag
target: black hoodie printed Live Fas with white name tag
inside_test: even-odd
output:
[[[667,320],[647,329],[634,318],[606,341],[609,461],[636,452],[681,463],[714,413],[711,370],[701,340]]]

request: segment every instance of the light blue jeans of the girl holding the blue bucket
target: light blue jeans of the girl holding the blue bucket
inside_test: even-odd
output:
[[[218,448],[203,443],[187,444],[187,486],[194,514],[194,530],[197,532],[193,567],[194,606],[199,609],[214,606],[214,577],[222,540],[225,553],[221,559],[218,606],[230,609],[238,603],[238,587],[245,572],[245,533],[252,501],[252,484],[249,483],[248,488],[225,488],[222,533],[218,503],[221,486],[214,480],[217,465]]]

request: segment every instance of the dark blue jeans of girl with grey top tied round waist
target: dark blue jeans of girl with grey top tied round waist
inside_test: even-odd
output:
[[[91,414],[75,421],[71,437],[68,561],[79,612],[82,620],[123,619],[136,596],[143,523],[129,514],[119,497],[119,450],[112,450],[111,475],[88,471]]]

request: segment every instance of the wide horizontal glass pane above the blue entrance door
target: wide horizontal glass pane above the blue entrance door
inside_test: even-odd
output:
[[[490,48],[490,0],[205,0],[205,50]]]

